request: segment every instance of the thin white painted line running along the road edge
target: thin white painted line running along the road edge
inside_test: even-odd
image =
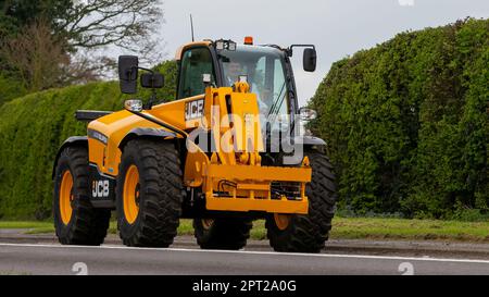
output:
[[[350,258],[350,259],[375,259],[375,260],[399,260],[399,261],[427,261],[427,262],[459,262],[459,263],[479,263],[489,264],[489,260],[472,259],[443,259],[443,258],[416,258],[416,257],[391,257],[391,256],[368,256],[368,255],[339,255],[339,253],[299,253],[299,252],[274,252],[274,251],[251,251],[251,250],[202,250],[185,248],[136,248],[124,246],[104,245],[100,247],[90,246],[62,246],[62,245],[35,245],[35,244],[2,244],[1,247],[39,247],[39,248],[84,248],[84,249],[120,249],[120,250],[148,250],[148,251],[181,251],[181,252],[202,252],[202,253],[244,253],[244,255],[266,255],[266,256],[292,256],[292,257],[316,257],[316,258]]]

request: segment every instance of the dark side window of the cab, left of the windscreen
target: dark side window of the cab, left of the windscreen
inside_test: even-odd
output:
[[[208,48],[187,50],[181,58],[178,99],[204,94],[203,74],[211,74],[212,83],[215,84],[211,51]]]

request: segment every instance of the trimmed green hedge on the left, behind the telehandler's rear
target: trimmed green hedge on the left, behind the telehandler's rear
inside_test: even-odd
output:
[[[165,87],[158,98],[175,98],[176,63],[158,70]],[[140,97],[148,98],[149,91]],[[0,218],[46,219],[51,215],[53,160],[70,136],[86,135],[76,110],[120,110],[127,96],[117,83],[92,83],[14,99],[0,108]]]

